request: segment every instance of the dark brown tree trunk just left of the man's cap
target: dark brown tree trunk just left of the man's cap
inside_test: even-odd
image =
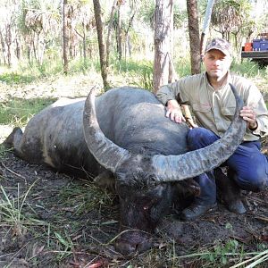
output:
[[[200,38],[197,13],[197,0],[187,0],[188,35],[191,54],[191,73],[200,73]]]

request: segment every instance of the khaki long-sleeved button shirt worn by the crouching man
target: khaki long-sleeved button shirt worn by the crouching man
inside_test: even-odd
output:
[[[156,96],[163,105],[171,99],[177,99],[180,104],[190,105],[197,124],[222,137],[236,109],[235,97],[229,83],[237,88],[245,105],[255,109],[258,127],[254,131],[247,130],[244,140],[257,140],[268,134],[268,112],[264,98],[255,85],[245,78],[228,73],[228,78],[222,87],[214,90],[204,72],[163,86]]]

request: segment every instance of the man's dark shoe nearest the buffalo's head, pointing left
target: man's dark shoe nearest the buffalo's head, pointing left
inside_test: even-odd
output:
[[[199,216],[205,214],[207,211],[214,211],[217,208],[217,203],[214,204],[202,204],[194,202],[181,212],[180,219],[185,221],[192,221]]]

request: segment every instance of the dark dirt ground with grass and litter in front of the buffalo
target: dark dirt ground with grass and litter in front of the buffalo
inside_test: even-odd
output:
[[[165,217],[154,249],[124,257],[113,248],[119,211],[112,194],[11,153],[1,158],[0,181],[4,199],[13,203],[20,197],[20,204],[13,204],[20,216],[4,216],[12,213],[2,207],[0,267],[201,267],[207,260],[181,256],[209,249],[207,256],[217,258],[225,251],[238,254],[268,247],[267,190],[243,193],[246,214],[232,214],[219,205],[194,222],[181,222],[175,214]],[[220,255],[217,250],[222,250]],[[238,262],[234,256],[229,265]],[[230,267],[215,262],[207,267]]]

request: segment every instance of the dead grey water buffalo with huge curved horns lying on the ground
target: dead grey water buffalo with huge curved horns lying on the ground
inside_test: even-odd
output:
[[[238,112],[242,101],[231,88],[237,112],[229,130],[197,151],[188,152],[186,124],[164,117],[164,106],[152,93],[130,87],[113,88],[96,101],[91,92],[86,103],[58,101],[35,115],[24,134],[15,128],[4,144],[21,158],[58,171],[81,175],[84,170],[99,178],[104,171],[113,173],[121,230],[130,229],[115,247],[122,254],[142,252],[152,246],[150,233],[172,205],[177,189],[182,183],[191,188],[192,180],[185,179],[212,170],[239,146],[246,124]]]

